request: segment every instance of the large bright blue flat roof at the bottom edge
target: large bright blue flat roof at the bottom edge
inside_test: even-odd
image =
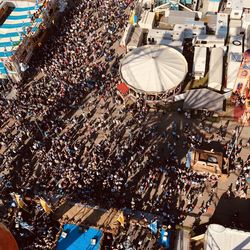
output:
[[[63,231],[67,232],[67,237],[60,236],[56,250],[98,250],[102,238],[102,231],[89,228],[86,232],[81,231],[80,227],[73,224],[63,226]],[[96,239],[96,244],[91,245],[91,239]]]

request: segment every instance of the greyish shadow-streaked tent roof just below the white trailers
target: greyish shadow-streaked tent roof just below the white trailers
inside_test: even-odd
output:
[[[192,89],[186,93],[183,109],[223,111],[224,96],[209,89]]]

